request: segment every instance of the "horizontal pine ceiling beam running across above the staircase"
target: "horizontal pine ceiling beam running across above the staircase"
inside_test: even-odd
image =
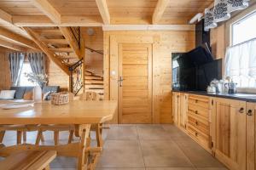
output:
[[[55,24],[47,16],[13,16],[15,26],[102,26],[100,16],[61,16],[61,24]]]

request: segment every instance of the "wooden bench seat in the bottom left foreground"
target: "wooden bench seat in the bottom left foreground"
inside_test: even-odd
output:
[[[49,170],[56,151],[22,151],[0,161],[0,170]]]

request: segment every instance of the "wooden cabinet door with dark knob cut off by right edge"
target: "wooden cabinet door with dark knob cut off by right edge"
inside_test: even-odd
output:
[[[256,104],[247,103],[247,170],[256,169]]]

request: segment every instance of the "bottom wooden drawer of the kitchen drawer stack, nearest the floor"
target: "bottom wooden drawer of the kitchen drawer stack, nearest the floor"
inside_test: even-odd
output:
[[[195,127],[189,124],[187,129],[192,139],[195,139],[199,144],[201,144],[202,147],[206,148],[207,150],[212,148],[210,135],[201,133],[200,131],[196,130]]]

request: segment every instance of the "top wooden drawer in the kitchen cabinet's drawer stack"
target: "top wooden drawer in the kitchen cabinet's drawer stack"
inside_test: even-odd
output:
[[[210,98],[202,95],[189,94],[189,105],[196,105],[209,109]]]

